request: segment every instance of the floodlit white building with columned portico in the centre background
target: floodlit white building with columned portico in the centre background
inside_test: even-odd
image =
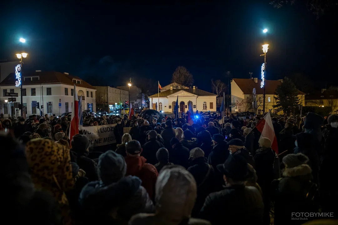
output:
[[[207,112],[216,111],[216,94],[193,88],[175,89],[173,85],[170,89],[161,91],[160,93],[149,96],[150,106],[156,110],[156,104],[158,111],[163,113],[173,113],[176,100],[178,96],[178,110],[180,112],[187,112],[189,109],[189,102],[192,102],[193,110]]]

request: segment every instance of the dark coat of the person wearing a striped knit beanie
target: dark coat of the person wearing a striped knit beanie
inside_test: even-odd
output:
[[[207,159],[199,157],[189,163],[188,171],[194,176],[197,185],[197,199],[192,216],[197,217],[206,197],[216,191],[215,170],[207,163]]]

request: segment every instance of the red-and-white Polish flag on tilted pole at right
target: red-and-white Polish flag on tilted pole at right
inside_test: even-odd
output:
[[[256,125],[256,128],[259,132],[261,132],[261,138],[269,138],[272,142],[271,148],[278,154],[278,145],[277,145],[277,138],[274,133],[270,111],[259,121]]]

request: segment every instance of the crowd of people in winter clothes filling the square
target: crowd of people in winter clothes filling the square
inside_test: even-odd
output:
[[[337,219],[337,114],[272,117],[278,153],[256,129],[263,118],[253,115],[229,115],[222,124],[201,117],[192,125],[184,114],[85,116],[84,126],[117,123],[117,145],[104,152],[89,150],[85,135],[68,139],[70,117],[0,116],[1,171],[10,188],[4,210],[14,222],[267,225],[272,216],[278,225]]]

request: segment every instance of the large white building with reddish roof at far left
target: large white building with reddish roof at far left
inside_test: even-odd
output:
[[[13,68],[14,69],[14,68]],[[79,77],[74,77],[68,73],[60,72],[41,72],[24,73],[22,77],[23,106],[26,116],[32,114],[55,114],[60,115],[72,111],[74,102],[74,84],[78,98],[82,95],[82,110],[90,109],[96,111],[95,91],[96,89]],[[8,97],[5,92],[18,93],[17,103],[20,103],[20,87],[15,86],[15,74],[9,74],[0,85],[0,112],[4,117],[8,115],[21,115],[21,111],[14,108],[13,103],[5,103]],[[61,107],[59,107],[61,103]],[[39,105],[39,107],[37,107]],[[43,109],[41,106],[43,105]],[[41,111],[40,111],[41,110]]]

